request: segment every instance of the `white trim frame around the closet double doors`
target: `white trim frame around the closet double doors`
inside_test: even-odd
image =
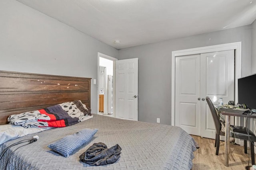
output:
[[[235,50],[235,103],[238,101],[238,78],[241,77],[241,57],[242,57],[242,42],[227,43],[220,45],[212,45],[206,47],[198,47],[193,49],[184,49],[172,51],[172,109],[171,109],[171,125],[175,126],[175,57],[183,55],[193,55],[201,53],[211,53],[216,51]],[[240,124],[240,119],[235,118],[235,125]]]

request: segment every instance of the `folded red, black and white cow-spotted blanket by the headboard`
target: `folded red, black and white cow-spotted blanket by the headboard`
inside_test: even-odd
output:
[[[23,127],[66,127],[92,118],[91,109],[80,100],[65,102],[36,111],[10,115],[10,124]]]

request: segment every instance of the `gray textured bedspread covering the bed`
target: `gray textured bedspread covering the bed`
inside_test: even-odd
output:
[[[84,128],[97,128],[98,132],[90,143],[75,150],[68,158],[47,147],[50,143]],[[193,152],[196,150],[194,139],[180,127],[95,114],[92,119],[76,125],[34,135],[39,136],[38,141],[19,149],[17,146],[10,148],[0,160],[0,169],[4,169],[7,164],[7,170],[190,170]],[[0,152],[13,143],[31,138],[25,136],[8,141],[0,145]],[[98,142],[105,143],[108,147],[120,145],[120,159],[105,166],[90,166],[80,162],[80,154]],[[15,149],[17,150],[12,152]]]

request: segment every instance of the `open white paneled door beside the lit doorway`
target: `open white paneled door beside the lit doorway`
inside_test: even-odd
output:
[[[138,121],[138,58],[116,61],[116,118]]]

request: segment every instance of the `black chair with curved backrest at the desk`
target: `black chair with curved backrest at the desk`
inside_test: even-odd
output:
[[[215,147],[216,147],[216,155],[218,155],[219,148],[220,148],[220,135],[225,136],[225,133],[221,131],[220,119],[219,119],[217,111],[212,103],[212,100],[208,96],[206,96],[206,102],[208,103],[208,106],[210,108],[210,111],[212,113],[212,117],[214,120],[214,125],[215,125],[215,130],[216,130]],[[233,131],[234,131],[234,133],[232,133],[231,137],[244,140],[244,153],[247,153],[247,140],[248,140],[247,131],[249,132],[249,136],[250,136],[250,140],[251,140],[250,147],[251,147],[252,164],[254,165],[255,164],[254,142],[256,142],[256,136],[249,129],[247,129],[247,131],[246,131],[246,127],[243,127],[243,126],[234,126]]]

